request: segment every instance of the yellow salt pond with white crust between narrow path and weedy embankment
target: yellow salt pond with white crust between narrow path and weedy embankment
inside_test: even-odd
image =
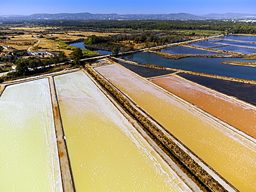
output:
[[[77,192],[190,191],[88,76],[54,79]]]

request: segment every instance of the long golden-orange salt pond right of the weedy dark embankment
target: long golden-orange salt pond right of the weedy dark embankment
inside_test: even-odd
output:
[[[239,191],[256,191],[256,145],[117,66],[95,68]]]

